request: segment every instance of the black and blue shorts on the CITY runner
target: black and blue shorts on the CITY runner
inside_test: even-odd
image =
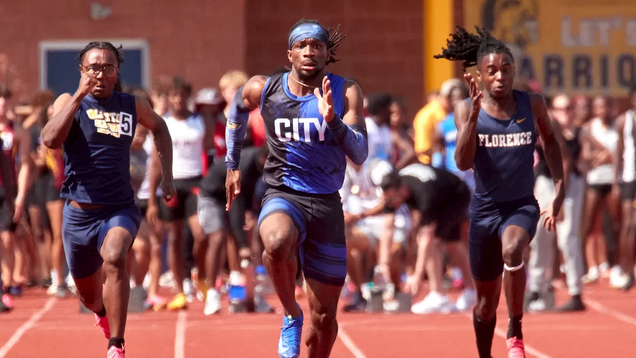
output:
[[[305,278],[342,286],[347,276],[347,240],[340,194],[307,194],[286,187],[263,196],[258,226],[273,213],[284,213],[298,229],[300,264]]]

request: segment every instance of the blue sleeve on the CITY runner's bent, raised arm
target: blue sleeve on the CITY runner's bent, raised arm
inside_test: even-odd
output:
[[[346,125],[342,119],[334,117],[327,124],[333,138],[338,142],[342,151],[356,165],[363,164],[369,155],[369,143],[366,139],[366,129],[361,125]]]

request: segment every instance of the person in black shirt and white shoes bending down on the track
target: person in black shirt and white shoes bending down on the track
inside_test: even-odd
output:
[[[425,164],[411,164],[394,171],[382,179],[384,210],[392,213],[407,204],[418,217],[417,262],[415,272],[408,278],[405,290],[417,295],[424,271],[431,278],[431,292],[419,303],[413,304],[413,313],[452,311],[450,299],[441,287],[440,241],[456,260],[467,262],[466,249],[460,242],[461,226],[470,203],[470,189],[458,176],[441,168]],[[472,296],[470,294],[472,293]],[[472,301],[471,301],[472,299]],[[458,301],[464,306],[474,304],[474,291],[468,288]],[[456,304],[457,306],[457,304]]]

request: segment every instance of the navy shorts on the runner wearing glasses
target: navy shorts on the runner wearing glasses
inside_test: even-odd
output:
[[[67,200],[62,212],[62,242],[71,276],[86,278],[102,266],[100,250],[110,229],[123,227],[135,240],[140,224],[141,213],[134,204],[81,209]]]

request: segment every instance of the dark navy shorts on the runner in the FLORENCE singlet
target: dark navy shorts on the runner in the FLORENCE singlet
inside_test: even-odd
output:
[[[534,196],[506,203],[481,201],[473,197],[468,231],[471,273],[477,281],[494,281],[504,272],[501,236],[515,225],[534,238],[539,223],[539,204]]]

